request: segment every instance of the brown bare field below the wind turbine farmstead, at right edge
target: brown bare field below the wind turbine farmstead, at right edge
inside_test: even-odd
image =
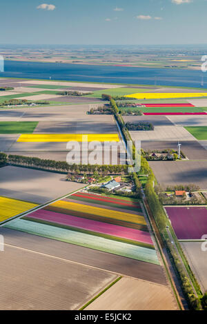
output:
[[[200,189],[207,189],[206,161],[150,161],[149,164],[161,185],[195,183]]]

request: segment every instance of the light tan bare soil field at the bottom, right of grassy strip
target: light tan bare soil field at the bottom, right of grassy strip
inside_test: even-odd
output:
[[[88,311],[177,309],[169,287],[131,278],[122,278],[117,281],[86,307]]]

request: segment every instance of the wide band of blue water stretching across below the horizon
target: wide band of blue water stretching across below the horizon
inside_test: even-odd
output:
[[[128,68],[122,66],[75,65],[5,61],[5,72],[0,77],[51,79],[88,82],[172,85],[207,88],[207,73],[191,70],[159,68]]]

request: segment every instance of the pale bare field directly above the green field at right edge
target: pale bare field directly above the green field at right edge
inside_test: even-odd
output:
[[[168,116],[168,119],[176,126],[206,126],[207,125],[207,115]]]

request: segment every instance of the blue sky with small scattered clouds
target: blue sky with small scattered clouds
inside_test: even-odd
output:
[[[206,10],[207,0],[7,0],[0,43],[201,44]]]

